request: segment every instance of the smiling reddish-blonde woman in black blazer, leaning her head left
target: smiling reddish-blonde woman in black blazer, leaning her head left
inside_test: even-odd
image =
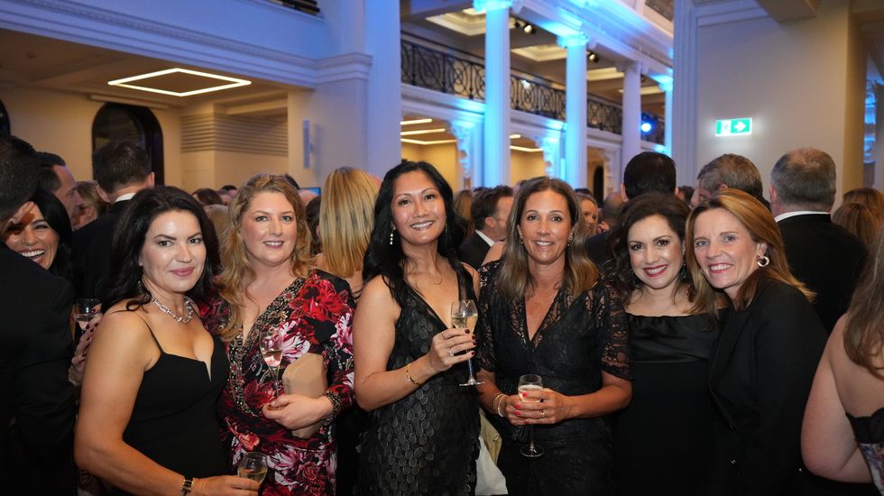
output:
[[[712,494],[782,494],[796,487],[801,416],[825,342],[808,299],[789,272],[769,210],[723,189],[687,221],[687,266],[695,310],[723,291],[731,308],[713,352],[709,387],[716,417]]]

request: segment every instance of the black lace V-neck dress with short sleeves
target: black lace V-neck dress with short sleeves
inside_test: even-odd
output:
[[[525,301],[504,299],[496,290],[502,262],[480,271],[480,362],[497,386],[515,394],[519,377],[536,373],[543,385],[576,396],[602,387],[602,372],[629,379],[629,333],[621,300],[600,280],[577,298],[559,291],[537,334],[528,338]],[[511,495],[613,494],[610,418],[572,418],[534,426],[539,458],[520,454],[527,429],[489,415],[503,438],[498,466]]]

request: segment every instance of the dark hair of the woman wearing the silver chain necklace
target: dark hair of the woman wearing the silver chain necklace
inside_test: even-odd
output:
[[[153,220],[169,211],[189,212],[197,217],[203,243],[206,245],[206,263],[197,284],[187,294],[196,301],[201,301],[207,295],[212,279],[221,266],[217,254],[215,226],[206,216],[203,207],[187,192],[169,186],[147,188],[132,198],[116,225],[114,241],[111,243],[110,271],[102,293],[104,296],[101,307],[105,311],[124,299],[131,299],[126,304],[127,310],[151,301],[151,293],[141,284],[143,270],[138,265],[138,259]]]

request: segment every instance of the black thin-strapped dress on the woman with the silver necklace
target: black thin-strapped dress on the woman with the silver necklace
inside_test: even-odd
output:
[[[205,363],[167,354],[153,331],[151,336],[160,359],[144,372],[123,440],[157,464],[190,477],[226,474],[216,417],[216,402],[230,371],[224,344],[213,336],[209,377]]]

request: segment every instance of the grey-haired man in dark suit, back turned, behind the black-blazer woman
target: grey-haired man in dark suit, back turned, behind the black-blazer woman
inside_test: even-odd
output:
[[[770,208],[783,234],[792,274],[816,293],[814,308],[832,332],[851,302],[866,261],[856,236],[832,222],[835,164],[814,148],[787,152],[770,173]]]

